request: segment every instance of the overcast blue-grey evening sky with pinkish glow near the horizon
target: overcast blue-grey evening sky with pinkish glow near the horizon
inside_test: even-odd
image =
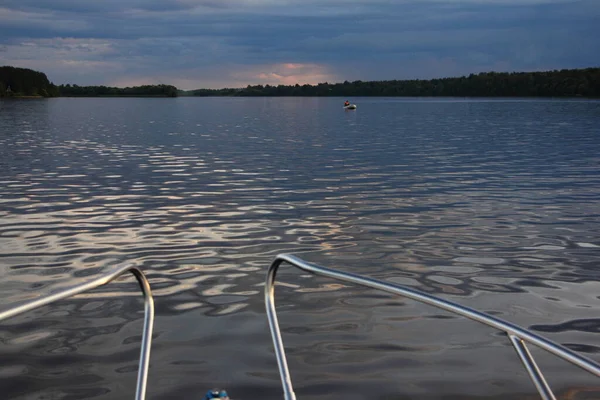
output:
[[[600,0],[0,0],[0,65],[181,89],[600,66]]]

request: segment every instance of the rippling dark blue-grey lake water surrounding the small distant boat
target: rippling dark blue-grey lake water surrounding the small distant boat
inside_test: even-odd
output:
[[[0,306],[138,263],[148,399],[282,397],[262,297],[278,253],[600,360],[600,102],[344,100],[1,101]],[[298,399],[536,398],[498,332],[291,267],[279,282]],[[142,318],[128,277],[3,322],[2,397],[132,398]],[[562,398],[600,396],[532,351]]]

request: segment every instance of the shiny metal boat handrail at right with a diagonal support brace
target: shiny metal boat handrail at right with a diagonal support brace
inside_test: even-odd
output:
[[[546,379],[542,375],[542,372],[535,363],[531,353],[527,349],[525,342],[532,343],[554,354],[555,356],[566,360],[571,364],[575,364],[578,367],[592,373],[593,375],[600,377],[600,364],[598,364],[594,360],[576,354],[572,350],[560,344],[554,343],[525,328],[521,328],[515,324],[504,321],[500,318],[485,314],[483,312],[479,312],[472,308],[465,307],[448,300],[432,296],[419,290],[379,281],[372,278],[362,277],[360,275],[351,274],[348,272],[341,272],[331,268],[322,267],[316,264],[306,262],[290,254],[280,254],[271,263],[269,271],[267,272],[265,284],[265,307],[267,311],[267,317],[269,320],[271,337],[273,339],[273,346],[275,348],[275,355],[277,357],[277,365],[279,367],[279,375],[281,377],[281,384],[283,386],[285,400],[295,400],[296,395],[292,386],[292,379],[287,365],[285,349],[283,347],[281,332],[279,330],[279,323],[277,321],[277,313],[275,310],[275,276],[277,275],[277,270],[279,269],[279,266],[284,261],[305,272],[310,272],[316,275],[323,275],[340,281],[354,283],[357,285],[366,286],[369,288],[382,290],[384,292],[404,296],[409,299],[416,300],[421,303],[425,303],[430,306],[434,306],[442,310],[461,315],[463,317],[480,322],[484,325],[488,325],[492,328],[496,328],[500,331],[506,332],[511,344],[513,345],[515,351],[521,359],[523,366],[527,370],[529,377],[533,381],[533,384],[538,390],[541,398],[544,400],[555,400],[556,398],[552,393],[550,386],[546,382]]]

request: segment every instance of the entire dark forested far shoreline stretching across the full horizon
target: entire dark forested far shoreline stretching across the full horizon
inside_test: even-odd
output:
[[[0,97],[177,96],[390,96],[390,97],[600,97],[600,68],[545,72],[482,72],[456,78],[354,81],[317,85],[248,85],[245,88],[178,90],[172,85],[126,88],[54,85],[46,74],[0,67]]]

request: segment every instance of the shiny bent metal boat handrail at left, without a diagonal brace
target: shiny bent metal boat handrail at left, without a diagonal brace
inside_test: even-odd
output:
[[[146,397],[148,366],[150,363],[152,329],[154,327],[154,299],[152,298],[152,290],[150,289],[150,283],[148,282],[148,279],[146,278],[144,273],[135,265],[121,265],[119,267],[116,267],[114,270],[106,272],[88,282],[72,286],[59,292],[25,302],[8,310],[2,311],[0,312],[0,321],[14,317],[19,314],[23,314],[27,311],[34,310],[36,308],[45,306],[55,301],[78,295],[90,289],[95,289],[99,286],[106,285],[112,282],[113,280],[117,279],[119,276],[123,275],[125,272],[131,272],[133,276],[135,276],[140,285],[142,293],[144,294],[144,331],[142,334],[140,363],[138,366],[138,376],[135,392],[136,400],[144,400]]]

